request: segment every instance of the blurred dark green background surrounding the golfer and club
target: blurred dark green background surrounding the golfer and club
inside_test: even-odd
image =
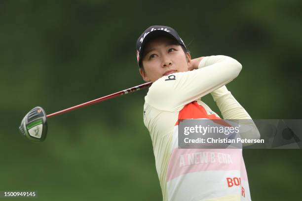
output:
[[[254,119],[301,119],[302,1],[0,1],[0,190],[41,201],[160,201],[147,90],[18,133],[35,106],[52,113],[143,83],[135,43],[173,27],[193,58],[227,55],[243,69],[228,89]],[[210,95],[202,98],[214,111]],[[301,150],[244,150],[254,201],[300,200]]]

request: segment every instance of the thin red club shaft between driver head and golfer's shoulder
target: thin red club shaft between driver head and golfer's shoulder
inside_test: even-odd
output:
[[[152,84],[151,82],[147,82],[147,83],[144,83],[144,84],[141,84],[141,85],[129,88],[129,89],[122,90],[120,92],[116,92],[116,93],[108,95],[108,96],[104,96],[104,97],[101,97],[101,98],[98,98],[98,99],[95,99],[95,100],[90,100],[88,102],[84,102],[82,104],[78,104],[76,106],[73,106],[73,107],[70,107],[70,108],[66,108],[66,109],[63,109],[61,111],[54,112],[52,114],[48,114],[48,115],[46,115],[46,117],[49,118],[49,117],[52,117],[52,116],[55,116],[55,115],[59,115],[59,114],[63,114],[63,113],[75,110],[75,109],[80,108],[80,107],[84,107],[84,106],[91,105],[91,104],[94,104],[94,103],[97,103],[97,102],[101,102],[103,100],[108,100],[108,99],[112,99],[114,97],[118,97],[118,96],[121,96],[121,95],[124,95],[124,94],[135,92],[137,90],[150,87],[151,84]]]

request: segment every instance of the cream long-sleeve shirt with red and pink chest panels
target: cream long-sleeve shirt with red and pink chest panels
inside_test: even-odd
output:
[[[144,123],[163,201],[251,200],[242,149],[178,148],[178,119],[220,119],[200,100],[209,93],[223,118],[251,119],[225,86],[241,68],[227,56],[204,57],[198,69],[163,76],[149,88]]]

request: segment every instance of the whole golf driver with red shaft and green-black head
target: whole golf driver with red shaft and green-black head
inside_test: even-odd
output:
[[[73,107],[69,107],[51,114],[46,115],[44,109],[42,107],[35,107],[31,109],[23,118],[21,121],[21,125],[19,127],[20,133],[26,137],[27,139],[33,141],[33,142],[41,142],[44,141],[47,135],[47,118],[63,114],[72,110],[75,110],[80,107],[84,107],[87,105],[91,105],[97,102],[101,102],[104,100],[112,99],[124,94],[128,94],[131,92],[138,91],[140,89],[144,89],[151,86],[151,82],[147,82],[129,89],[125,89],[116,93],[113,93],[108,96],[104,96],[95,100],[90,100],[88,102],[84,102],[81,104],[78,104]]]

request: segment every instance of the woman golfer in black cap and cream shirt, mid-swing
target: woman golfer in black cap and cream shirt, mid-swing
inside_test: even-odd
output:
[[[152,82],[144,123],[163,201],[250,201],[242,149],[178,148],[179,119],[221,119],[200,100],[209,93],[224,119],[251,119],[225,86],[241,64],[227,56],[191,59],[178,33],[166,26],[149,27],[136,49],[140,74]]]

